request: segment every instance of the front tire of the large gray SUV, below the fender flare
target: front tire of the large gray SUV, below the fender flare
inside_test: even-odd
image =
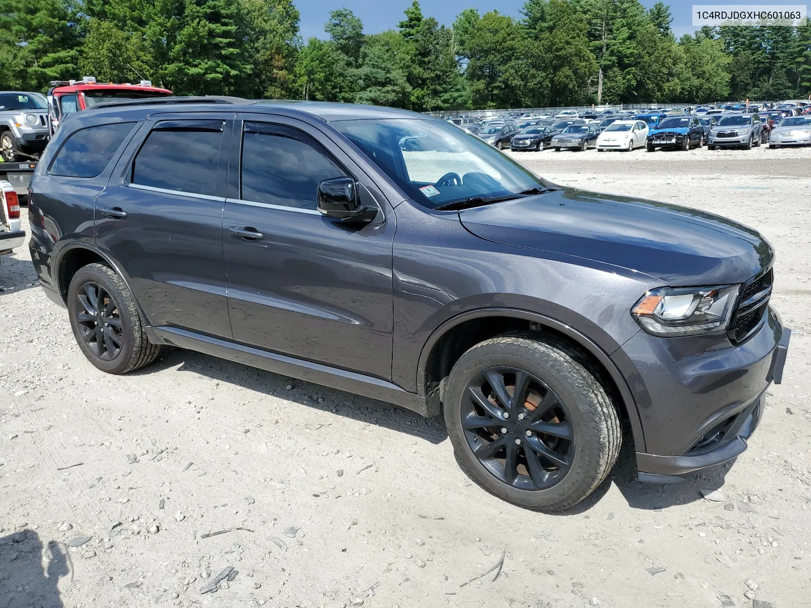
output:
[[[513,416],[508,420],[503,413],[507,409],[493,405],[500,401],[491,395],[494,391],[487,380],[482,379],[486,379],[486,375],[496,378],[494,386],[500,379],[501,387],[510,397],[509,382],[513,382],[514,388],[517,374],[510,375],[509,370],[526,373],[529,392],[526,399],[521,396],[521,403],[509,410],[513,411]],[[483,409],[482,401],[474,399],[471,387],[478,387],[474,390],[479,391],[483,403],[491,409]],[[488,396],[484,396],[485,390]],[[546,402],[541,390],[543,397],[550,393],[553,397],[553,405],[547,405],[543,411],[537,408]],[[530,405],[533,406],[531,409]],[[539,417],[533,413],[536,408]],[[500,415],[501,418],[478,415],[478,412],[486,411],[494,411],[494,416]],[[466,429],[462,427],[463,416]],[[457,460],[479,486],[510,503],[543,512],[572,507],[590,495],[616,462],[622,441],[616,409],[590,371],[586,358],[563,340],[529,332],[485,340],[459,358],[448,377],[444,418]],[[486,425],[488,421],[495,422],[496,426],[475,426],[477,423]],[[507,435],[500,428],[502,424],[504,429],[509,426]],[[527,436],[525,427],[529,424],[542,425],[556,433],[565,427],[564,432],[571,439],[560,439],[560,435],[547,435],[539,430],[529,430]],[[498,451],[490,448],[493,456],[480,460],[472,446],[480,445],[478,451],[481,452],[491,445],[490,442],[499,442],[496,444]],[[555,467],[550,465],[555,460],[534,456],[539,452],[532,446],[546,448],[547,452],[541,454],[563,458],[560,460],[562,464]],[[510,453],[508,448],[516,463],[510,469],[505,465]],[[556,452],[559,449],[560,453]],[[499,455],[504,462],[500,462]],[[535,465],[541,463],[543,468],[530,466],[528,455],[537,458]],[[521,466],[524,473],[521,473]],[[505,470],[513,469],[514,474],[505,475]],[[513,481],[505,481],[508,478]],[[537,479],[541,482],[537,483]]]

